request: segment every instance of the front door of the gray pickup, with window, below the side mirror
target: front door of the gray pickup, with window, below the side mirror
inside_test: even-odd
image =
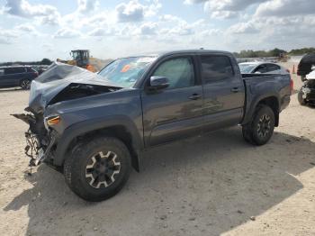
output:
[[[147,147],[197,135],[202,127],[202,85],[192,55],[169,57],[147,77],[167,77],[166,89],[141,95]]]

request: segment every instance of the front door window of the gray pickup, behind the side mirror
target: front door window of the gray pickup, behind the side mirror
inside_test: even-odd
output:
[[[193,61],[190,58],[169,59],[158,66],[154,77],[167,77],[167,88],[194,86]]]

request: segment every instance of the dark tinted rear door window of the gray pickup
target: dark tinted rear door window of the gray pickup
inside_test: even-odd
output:
[[[230,60],[226,56],[201,56],[202,80],[208,84],[234,76]]]

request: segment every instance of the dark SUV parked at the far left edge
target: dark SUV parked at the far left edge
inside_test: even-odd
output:
[[[31,67],[0,67],[0,87],[21,86],[23,89],[29,89],[31,80],[38,76],[39,73]]]

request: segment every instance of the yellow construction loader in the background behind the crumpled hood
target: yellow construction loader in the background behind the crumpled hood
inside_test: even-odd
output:
[[[91,72],[96,71],[94,66],[90,64],[89,50],[71,50],[70,56],[72,57],[72,59],[69,60],[57,59],[57,61],[79,68],[85,68]]]

